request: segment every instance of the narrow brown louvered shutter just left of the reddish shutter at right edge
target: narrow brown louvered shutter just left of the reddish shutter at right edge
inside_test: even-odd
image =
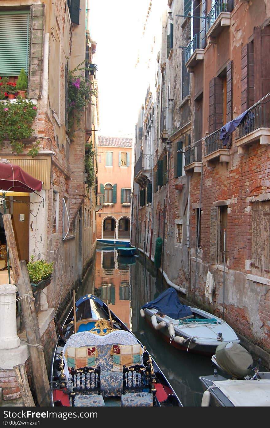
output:
[[[253,41],[241,49],[241,112],[254,104]]]

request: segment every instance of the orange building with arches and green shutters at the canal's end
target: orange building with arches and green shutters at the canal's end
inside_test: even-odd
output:
[[[97,239],[129,239],[132,138],[98,137],[97,189],[104,202],[97,212]]]

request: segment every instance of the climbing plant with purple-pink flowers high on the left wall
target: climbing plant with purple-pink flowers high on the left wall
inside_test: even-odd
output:
[[[85,67],[80,68],[80,65],[82,63],[68,74],[68,132],[73,128],[74,121],[79,127],[85,107],[93,104],[92,96],[97,96],[93,84],[80,74],[80,71],[85,71]]]

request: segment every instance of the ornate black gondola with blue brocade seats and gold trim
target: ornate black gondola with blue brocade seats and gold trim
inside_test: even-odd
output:
[[[53,407],[182,407],[146,348],[102,300],[86,294],[60,328],[50,381]]]

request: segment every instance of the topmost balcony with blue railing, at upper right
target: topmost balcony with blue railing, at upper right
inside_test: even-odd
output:
[[[217,0],[206,16],[206,37],[217,37],[223,27],[231,25],[231,11],[234,8],[233,0]]]

